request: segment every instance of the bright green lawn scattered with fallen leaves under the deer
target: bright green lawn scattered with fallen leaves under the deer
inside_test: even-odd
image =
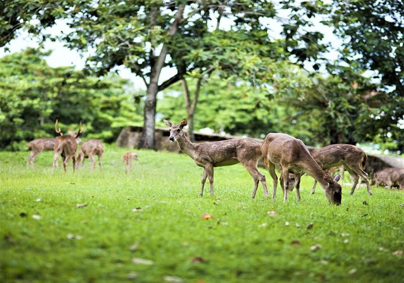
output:
[[[53,175],[52,152],[33,170],[28,152],[0,152],[1,282],[404,281],[402,191],[372,187],[368,196],[361,187],[350,196],[344,186],[342,205],[331,206],[320,187],[310,195],[305,176],[300,203],[294,191],[283,203],[279,188],[265,199],[261,184],[251,199],[238,164],[215,168],[215,195],[207,183],[201,198],[202,169],[188,156],[140,150],[125,175],[125,151],[107,147],[102,173],[86,161]]]

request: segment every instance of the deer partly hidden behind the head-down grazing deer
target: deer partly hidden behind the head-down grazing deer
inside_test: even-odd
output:
[[[369,184],[369,176],[364,171],[368,156],[365,151],[355,145],[350,144],[331,144],[312,151],[314,160],[320,165],[324,171],[328,171],[331,167],[343,166],[350,176],[354,178],[354,183],[350,189],[350,194],[354,194],[358,184],[359,177],[365,180],[368,188],[368,194],[372,195]],[[314,182],[312,194],[316,191],[317,181]]]

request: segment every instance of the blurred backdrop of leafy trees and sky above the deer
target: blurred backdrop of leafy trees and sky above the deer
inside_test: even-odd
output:
[[[187,118],[402,154],[403,31],[401,1],[2,1],[0,149],[54,137],[56,119],[156,148],[162,119]]]

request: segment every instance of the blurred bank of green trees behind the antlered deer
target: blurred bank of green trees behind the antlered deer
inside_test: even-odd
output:
[[[55,136],[56,119],[65,131],[82,121],[90,137],[106,141],[141,120],[124,90],[126,80],[51,68],[43,60],[47,54],[30,48],[0,59],[0,148],[19,149],[21,141]]]

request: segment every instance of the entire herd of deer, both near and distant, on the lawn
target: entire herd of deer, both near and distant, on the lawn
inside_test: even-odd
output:
[[[288,191],[296,187],[297,201],[300,201],[300,177],[308,174],[315,179],[312,194],[315,193],[316,184],[320,183],[325,191],[326,199],[332,204],[341,204],[341,186],[338,184],[340,176],[337,174],[333,178],[328,172],[337,166],[343,167],[354,179],[350,194],[354,194],[358,185],[359,178],[362,178],[367,186],[369,195],[372,195],[370,189],[368,174],[364,171],[367,155],[354,145],[333,144],[323,148],[315,149],[309,152],[307,146],[299,139],[282,133],[269,133],[264,142],[251,138],[235,138],[217,142],[192,143],[184,134],[183,128],[187,125],[187,120],[183,119],[180,125],[163,120],[170,127],[170,141],[177,141],[181,151],[193,159],[196,165],[203,167],[204,171],[201,178],[200,196],[204,194],[206,179],[209,179],[210,193],[213,195],[213,168],[219,166],[228,166],[241,163],[254,180],[254,189],[251,197],[254,198],[258,184],[261,182],[264,188],[265,197],[269,197],[265,175],[258,171],[257,163],[263,156],[269,174],[273,180],[273,195],[276,196],[276,187],[278,177],[275,172],[275,165],[281,169],[279,178],[283,191],[284,201],[287,201]],[[99,169],[101,169],[101,160],[104,153],[104,147],[101,141],[90,139],[80,146],[80,153],[76,157],[77,144],[80,142],[79,136],[83,133],[81,123],[77,133],[63,135],[58,129],[58,120],[55,123],[55,131],[59,134],[57,138],[36,139],[28,144],[31,154],[27,160],[27,167],[33,166],[34,158],[44,150],[54,151],[53,169],[58,166],[58,157],[62,156],[63,166],[66,172],[66,166],[70,159],[73,159],[73,172],[83,166],[84,158],[91,161],[92,170],[95,168],[94,156],[98,156]],[[125,165],[125,173],[131,171],[132,160],[137,160],[137,154],[126,152],[122,156]],[[376,184],[386,184],[391,187],[398,184],[404,189],[404,169],[387,168],[375,174]]]

